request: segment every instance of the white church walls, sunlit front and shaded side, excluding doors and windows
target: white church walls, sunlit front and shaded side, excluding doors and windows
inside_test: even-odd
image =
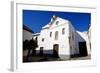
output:
[[[56,25],[56,21],[59,21],[58,25]],[[65,34],[62,35],[63,28],[65,28]],[[55,40],[56,31],[58,31],[58,40]],[[52,32],[51,37],[50,32]],[[57,17],[52,25],[47,24],[42,27],[40,36],[38,36],[39,47],[37,50],[40,50],[40,47],[43,47],[43,53],[53,54],[53,45],[58,44],[58,54],[60,58],[68,59],[70,58],[70,55],[78,55],[79,42],[86,41],[88,53],[90,53],[88,37],[87,35],[82,35],[80,33],[81,32],[76,32],[70,21]],[[42,41],[42,38],[44,38],[44,41]]]

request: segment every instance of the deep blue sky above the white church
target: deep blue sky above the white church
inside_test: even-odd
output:
[[[87,31],[89,24],[91,24],[90,13],[36,10],[23,10],[23,24],[34,32],[40,32],[41,28],[50,22],[53,15],[71,21],[74,28],[78,31]]]

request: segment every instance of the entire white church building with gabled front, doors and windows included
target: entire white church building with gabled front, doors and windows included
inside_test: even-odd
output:
[[[37,53],[52,54],[61,59],[69,59],[76,55],[90,54],[89,39],[76,31],[69,20],[53,15],[51,21],[42,27],[38,37]],[[85,37],[85,38],[84,38]]]

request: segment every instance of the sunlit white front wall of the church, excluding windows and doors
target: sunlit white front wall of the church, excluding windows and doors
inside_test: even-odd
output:
[[[59,21],[59,24],[56,25],[56,21]],[[38,45],[39,47],[37,50],[40,49],[40,47],[44,47],[43,50],[52,50],[49,51],[49,53],[53,53],[53,45],[59,44],[59,56],[68,58],[70,55],[69,50],[69,21],[57,18],[52,26],[49,29],[43,29],[40,32],[40,36],[38,37]],[[65,34],[62,35],[62,29],[65,28]],[[58,40],[55,40],[55,32],[58,31]],[[50,37],[50,32],[52,32],[52,37]],[[42,42],[42,38],[44,38],[44,42]],[[48,51],[44,51],[44,53],[48,53]]]

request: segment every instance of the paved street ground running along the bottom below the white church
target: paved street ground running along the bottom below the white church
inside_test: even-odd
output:
[[[45,61],[67,61],[67,60],[87,60],[91,59],[91,56],[85,56],[85,57],[75,57],[75,58],[70,58],[70,59],[60,59],[60,58],[55,58],[55,57],[45,57],[45,56],[34,56],[34,57],[29,57],[28,60],[25,60],[24,62],[45,62]]]

